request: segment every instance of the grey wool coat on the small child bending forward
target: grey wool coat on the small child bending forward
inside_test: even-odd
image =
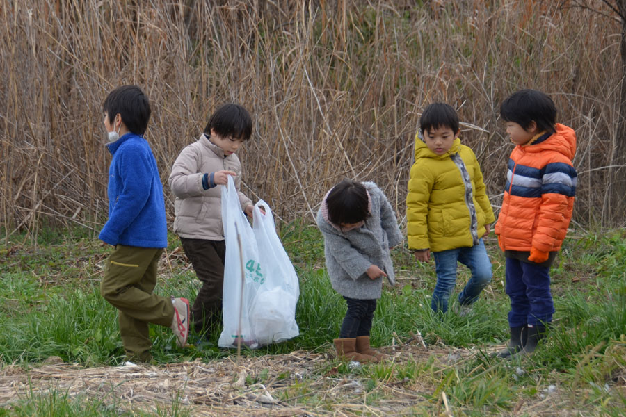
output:
[[[383,278],[370,279],[367,268],[377,265],[390,284],[396,282],[390,248],[402,242],[396,215],[385,194],[372,182],[362,183],[370,197],[371,216],[362,227],[341,231],[328,220],[326,197],[317,213],[317,225],[324,236],[326,268],[337,293],[359,300],[380,298]]]

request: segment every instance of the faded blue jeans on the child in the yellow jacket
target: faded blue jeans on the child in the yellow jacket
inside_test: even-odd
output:
[[[472,304],[483,291],[483,288],[491,281],[491,261],[485,250],[485,244],[480,239],[477,245],[472,247],[457,247],[456,249],[433,252],[435,257],[435,272],[437,273],[437,284],[433,291],[431,309],[433,311],[448,311],[448,299],[456,286],[456,266],[457,263],[470,268],[472,277],[467,281],[467,285],[458,295],[459,304]]]

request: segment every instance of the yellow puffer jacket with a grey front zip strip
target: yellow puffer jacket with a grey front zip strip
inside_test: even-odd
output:
[[[456,138],[447,154],[437,155],[415,136],[415,163],[411,167],[406,197],[407,234],[410,249],[431,252],[471,247],[472,215],[465,203],[465,181],[451,156],[458,154],[465,164],[473,188],[476,233],[485,234],[485,224],[495,216],[483,183],[483,174],[470,147]]]

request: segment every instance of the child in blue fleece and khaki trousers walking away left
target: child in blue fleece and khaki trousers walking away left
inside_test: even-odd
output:
[[[102,297],[118,309],[127,361],[149,362],[148,323],[171,327],[184,346],[189,302],[153,294],[157,264],[168,245],[163,186],[152,149],[143,133],[150,102],[136,85],[123,85],[104,100],[109,167],[109,220],[99,238],[115,249],[106,259]]]

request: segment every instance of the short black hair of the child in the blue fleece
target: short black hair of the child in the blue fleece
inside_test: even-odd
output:
[[[102,111],[109,116],[109,123],[119,113],[126,128],[136,135],[145,133],[151,114],[147,95],[136,85],[122,85],[111,91],[104,99]]]

